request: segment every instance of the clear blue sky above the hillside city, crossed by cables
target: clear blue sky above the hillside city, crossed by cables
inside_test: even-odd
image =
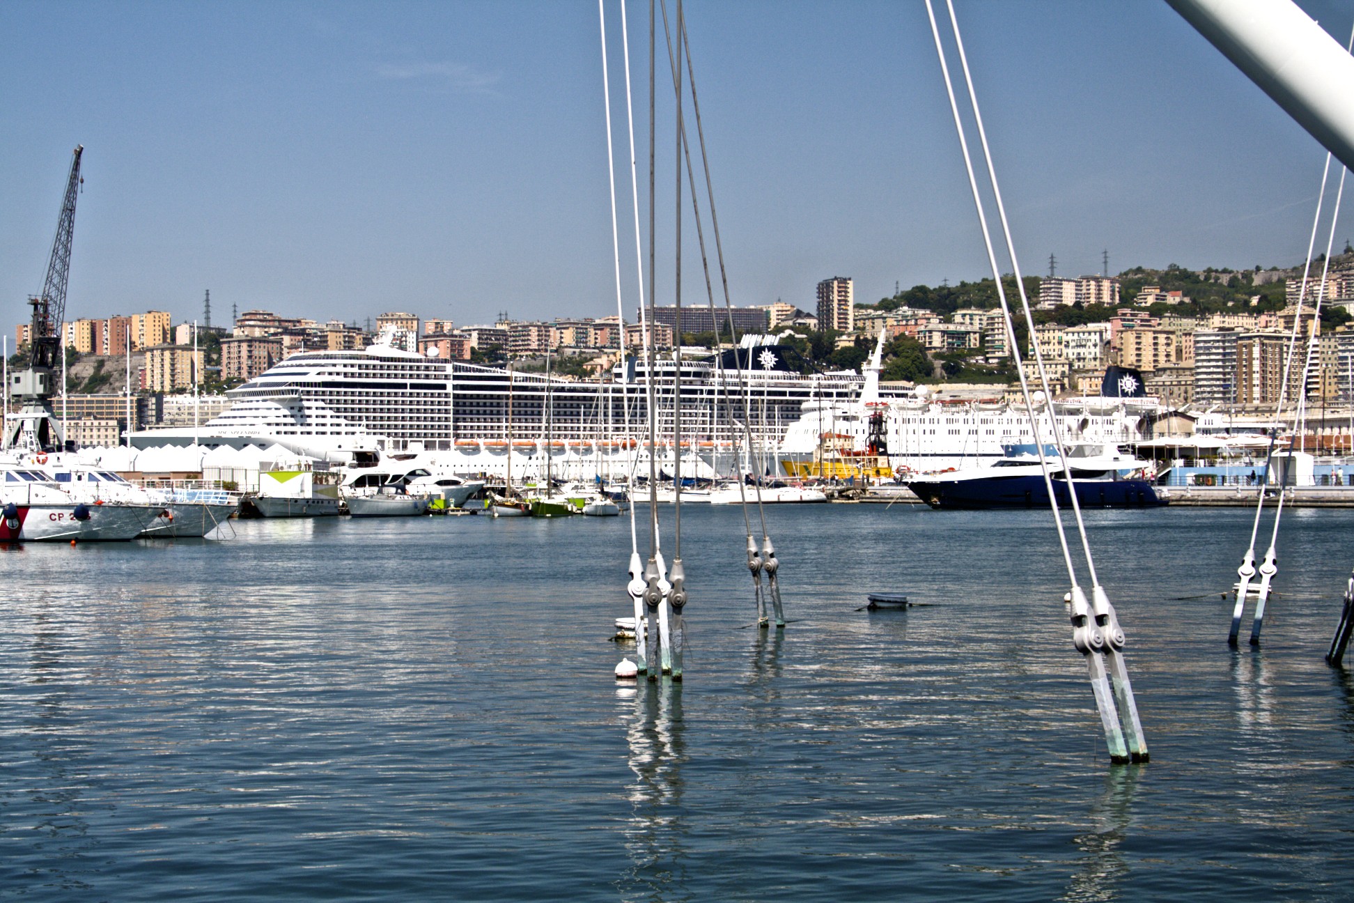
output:
[[[604,3],[628,320],[620,0]],[[1300,5],[1345,42],[1350,4]],[[1324,150],[1162,0],[956,9],[1024,272],[1055,255],[1057,275],[1097,273],[1105,249],[1110,272],[1303,259]],[[873,302],[990,275],[919,0],[688,0],[685,15],[735,305],[811,310],[829,276]],[[649,4],[627,16],[647,268]],[[661,24],[658,46],[655,294],[672,303]],[[77,144],[68,320],[202,318],[206,290],[217,325],[232,306],[462,325],[615,314],[605,114],[584,0],[5,0],[0,322],[26,320],[42,288]],[[682,303],[704,305],[684,210]],[[1354,222],[1340,230],[1338,246]]]

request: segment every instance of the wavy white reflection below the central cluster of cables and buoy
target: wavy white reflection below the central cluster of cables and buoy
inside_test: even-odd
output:
[[[681,688],[668,677],[616,688],[635,776],[626,788],[631,807],[624,827],[630,868],[617,881],[624,900],[691,899],[685,889],[689,827],[681,811],[681,772],[686,762]]]

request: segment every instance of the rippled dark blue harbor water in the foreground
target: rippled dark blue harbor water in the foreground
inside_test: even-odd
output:
[[[1322,655],[1354,512],[1285,514],[1239,653],[1248,512],[1090,514],[1129,768],[1047,514],[768,513],[793,623],[747,627],[738,509],[689,506],[686,681],[638,688],[624,519],[0,555],[0,899],[1349,898],[1354,681]]]

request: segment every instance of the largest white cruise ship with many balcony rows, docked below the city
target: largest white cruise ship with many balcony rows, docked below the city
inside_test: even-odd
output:
[[[741,443],[743,467],[751,470],[756,458],[758,470],[774,468],[785,428],[807,402],[848,403],[865,383],[856,372],[804,376],[799,366],[793,348],[756,336],[718,356],[681,356],[680,379],[677,361],[663,355],[653,368],[659,460],[673,463],[680,397],[688,454],[730,470],[735,440],[750,433],[751,452]],[[130,439],[138,448],[280,444],[333,463],[440,451],[455,454],[467,471],[486,472],[502,470],[509,443],[524,458],[548,445],[575,459],[634,462],[630,449],[647,440],[649,379],[646,361],[631,356],[605,378],[585,382],[425,357],[379,341],[360,351],[292,355],[229,390],[230,406],[211,421]]]

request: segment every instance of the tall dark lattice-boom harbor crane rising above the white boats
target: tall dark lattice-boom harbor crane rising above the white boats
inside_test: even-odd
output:
[[[30,452],[62,451],[65,436],[61,422],[51,413],[51,394],[61,367],[64,345],[61,324],[66,313],[66,280],[70,275],[70,240],[76,227],[76,198],[84,181],[80,177],[80,154],[76,146],[70,158],[70,176],[57,219],[57,237],[51,241],[47,278],[42,294],[28,298],[32,318],[28,322],[28,364],[9,375],[5,398],[18,398],[18,414],[5,414],[4,447]]]

